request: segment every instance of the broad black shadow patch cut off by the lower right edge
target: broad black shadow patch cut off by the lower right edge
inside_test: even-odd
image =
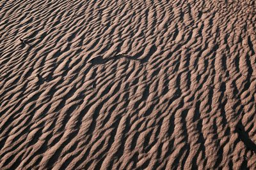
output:
[[[248,133],[244,130],[244,126],[243,126],[241,120],[236,125],[236,132],[238,134],[238,138],[240,138],[241,141],[243,141],[246,148],[248,148],[249,150],[252,150],[252,152],[256,153],[256,145],[249,138]]]

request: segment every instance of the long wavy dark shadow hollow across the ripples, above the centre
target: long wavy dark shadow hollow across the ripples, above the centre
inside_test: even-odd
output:
[[[114,57],[109,57],[107,59],[103,59],[102,55],[98,55],[97,57],[94,57],[93,59],[89,60],[89,62],[91,62],[92,64],[106,64],[107,62],[109,62],[110,60],[118,60],[118,59],[128,59],[128,60],[138,60],[141,62],[140,59],[137,59],[136,57],[131,57],[129,55],[125,55],[125,54],[118,54],[115,55]]]

